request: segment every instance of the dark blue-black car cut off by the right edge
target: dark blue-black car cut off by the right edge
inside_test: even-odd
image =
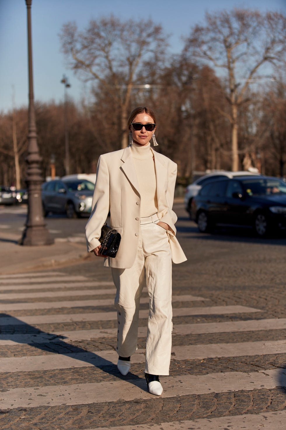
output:
[[[265,237],[286,229],[286,183],[269,176],[212,181],[193,198],[191,209],[202,233],[215,226],[252,227]]]

